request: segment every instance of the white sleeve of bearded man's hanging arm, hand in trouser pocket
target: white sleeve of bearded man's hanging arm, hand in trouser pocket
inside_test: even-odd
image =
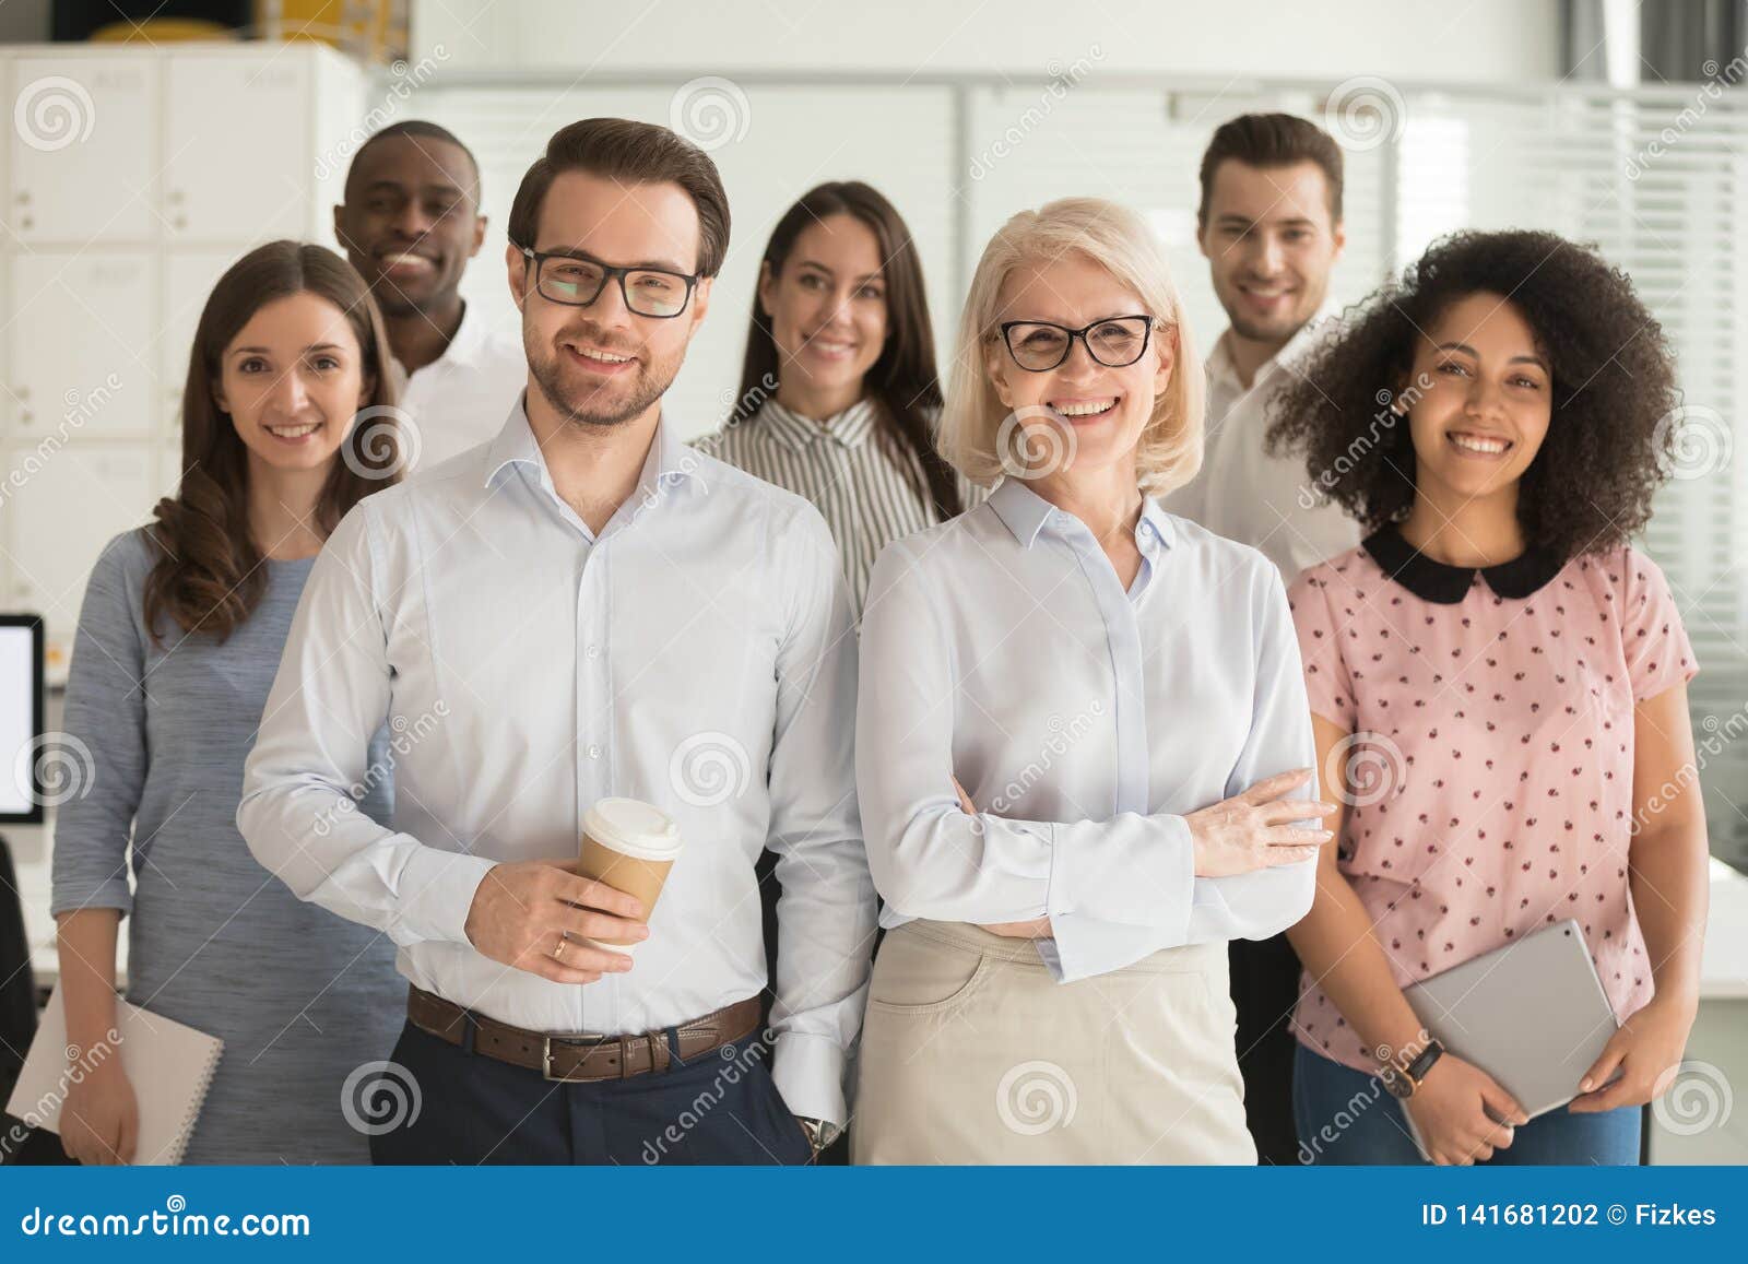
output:
[[[776,664],[771,832],[778,902],[773,1077],[797,1115],[848,1121],[844,1066],[862,1026],[874,949],[874,883],[857,811],[857,636],[825,521],[808,509],[783,538],[788,635]]]

